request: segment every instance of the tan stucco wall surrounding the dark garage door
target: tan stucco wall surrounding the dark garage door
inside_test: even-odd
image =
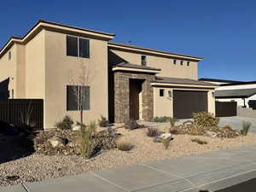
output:
[[[165,90],[165,96],[159,96],[160,89]],[[185,89],[185,88],[170,88],[170,87],[154,87],[154,117],[169,116],[173,117],[173,97],[168,98],[168,90],[199,90],[199,89]],[[215,115],[215,98],[212,96],[214,90],[207,91],[208,112]],[[173,93],[172,93],[173,96]]]

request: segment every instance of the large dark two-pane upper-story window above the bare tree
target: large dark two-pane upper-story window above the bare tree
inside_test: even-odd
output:
[[[90,58],[89,39],[67,36],[67,55]]]

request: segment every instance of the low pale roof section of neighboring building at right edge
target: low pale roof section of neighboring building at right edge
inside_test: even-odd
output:
[[[215,90],[216,98],[247,98],[256,94],[255,89]]]

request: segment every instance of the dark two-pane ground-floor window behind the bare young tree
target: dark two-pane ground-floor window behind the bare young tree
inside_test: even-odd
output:
[[[67,85],[67,111],[79,111],[79,101],[83,110],[90,110],[90,86]]]

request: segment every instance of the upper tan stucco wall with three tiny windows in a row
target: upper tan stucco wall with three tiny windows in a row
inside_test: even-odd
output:
[[[131,62],[132,64],[141,65],[141,55],[138,53],[131,53],[125,50],[109,49],[113,54],[118,55],[124,61]],[[116,58],[113,58],[113,54],[109,54],[109,64],[116,62]],[[157,74],[160,77],[170,77],[170,78],[183,78],[183,79],[198,79],[197,65],[196,61],[189,61],[189,66],[187,66],[187,60],[183,60],[183,65],[180,65],[181,60],[177,60],[176,64],[173,64],[174,58],[163,57],[159,55],[147,55],[147,66],[160,68],[161,72]]]

